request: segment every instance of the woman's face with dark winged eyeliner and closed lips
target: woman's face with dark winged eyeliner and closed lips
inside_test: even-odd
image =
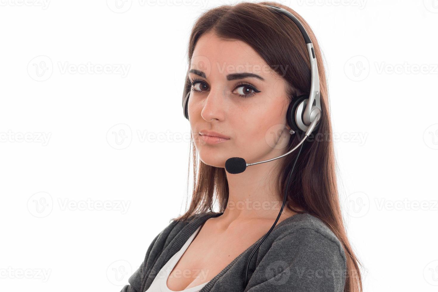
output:
[[[286,82],[251,46],[204,34],[194,48],[189,77],[194,84],[188,115],[202,162],[225,167],[231,157],[252,163],[286,152]],[[217,139],[205,140],[200,134],[205,131],[228,139],[212,143]]]

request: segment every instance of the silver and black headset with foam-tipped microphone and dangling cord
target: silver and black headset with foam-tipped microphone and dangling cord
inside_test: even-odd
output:
[[[290,20],[292,20],[293,23],[295,23],[295,25],[297,25],[297,27],[300,29],[300,32],[303,35],[304,41],[306,42],[307,53],[309,55],[309,60],[310,60],[311,87],[310,87],[309,95],[297,96],[297,98],[295,98],[295,100],[292,100],[290,102],[289,107],[287,109],[286,120],[287,120],[289,127],[291,128],[290,134],[294,134],[295,132],[298,132],[298,133],[305,132],[304,138],[294,148],[292,148],[290,151],[286,152],[283,155],[280,155],[278,157],[271,158],[268,160],[263,160],[260,162],[247,163],[244,158],[240,158],[240,157],[232,157],[232,158],[227,159],[225,162],[226,171],[231,173],[231,174],[237,174],[237,173],[244,172],[244,170],[250,165],[256,165],[256,164],[260,164],[260,163],[264,163],[264,162],[269,162],[272,160],[276,160],[278,158],[282,158],[286,155],[289,155],[290,153],[295,151],[301,145],[300,150],[297,153],[297,156],[295,158],[292,169],[290,170],[290,173],[289,173],[289,176],[287,179],[286,190],[285,190],[284,197],[283,197],[283,205],[280,209],[279,215],[277,216],[277,219],[274,222],[274,224],[272,225],[271,229],[265,234],[265,236],[261,239],[261,241],[258,243],[258,245],[254,248],[254,250],[252,251],[251,256],[247,262],[247,269],[246,269],[246,273],[245,273],[244,286],[247,285],[248,268],[249,268],[249,264],[251,262],[251,258],[253,257],[255,251],[258,249],[258,247],[261,245],[261,243],[263,243],[265,238],[272,231],[272,229],[274,229],[275,225],[277,224],[277,222],[280,218],[281,213],[283,212],[283,208],[284,208],[284,205],[286,203],[287,190],[289,189],[290,178],[292,176],[293,169],[295,168],[295,164],[297,163],[298,156],[300,155],[301,149],[303,148],[303,145],[304,145],[303,142],[306,140],[306,138],[312,132],[314,132],[315,130],[318,129],[319,124],[320,124],[319,120],[321,119],[321,114],[322,114],[321,113],[321,99],[320,99],[320,93],[319,93],[318,64],[316,62],[315,52],[313,49],[313,43],[312,43],[309,35],[307,34],[304,26],[301,24],[301,22],[298,20],[298,18],[296,18],[295,15],[293,15],[289,11],[287,11],[281,7],[277,7],[277,6],[273,6],[273,5],[266,5],[266,4],[263,4],[263,5],[269,7],[273,13],[286,15],[286,17],[288,17]],[[188,100],[190,97],[191,88],[188,88],[187,79],[188,79],[188,73],[186,76],[186,82],[184,84],[183,104],[182,104],[184,117],[188,120],[189,119]]]

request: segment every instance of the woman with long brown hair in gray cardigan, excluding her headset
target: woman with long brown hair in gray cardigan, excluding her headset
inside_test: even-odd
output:
[[[309,97],[306,43],[297,25],[266,4],[291,12],[310,36],[322,115],[299,151],[230,173],[224,168],[230,157],[259,162],[303,139],[300,131],[293,135],[299,129],[286,115],[294,112],[291,102]],[[190,92],[191,204],[155,237],[122,292],[362,291],[327,138],[321,52],[307,23],[274,2],[216,7],[194,25],[188,60],[183,99]],[[219,212],[212,211],[215,200]]]

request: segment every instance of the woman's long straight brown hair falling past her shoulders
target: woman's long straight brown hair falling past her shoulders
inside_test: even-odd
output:
[[[286,81],[287,95],[290,101],[297,98],[299,92],[308,94],[310,90],[311,69],[307,48],[303,36],[293,22],[282,14],[270,11],[263,4],[282,7],[294,14],[309,34],[318,62],[322,116],[317,134],[311,134],[305,142],[287,190],[286,208],[297,213],[309,213],[321,219],[338,237],[346,254],[346,283],[344,292],[361,292],[362,282],[359,261],[353,253],[346,235],[346,229],[339,205],[336,183],[336,162],[333,148],[332,125],[329,115],[329,94],[325,69],[318,41],[307,22],[290,7],[276,2],[240,2],[236,5],[222,5],[205,11],[192,28],[188,63],[191,63],[194,47],[198,39],[207,32],[215,32],[221,39],[236,39],[249,44],[272,68]],[[282,64],[281,68],[276,64]],[[287,68],[284,70],[283,68]],[[184,94],[190,91],[188,74],[185,80]],[[287,146],[289,151],[300,141],[292,136]],[[321,138],[322,137],[322,138]],[[315,143],[317,141],[318,143]],[[203,163],[197,155],[191,136],[193,166],[193,192],[191,203],[185,213],[175,221],[186,220],[201,212],[213,211],[214,201],[218,201],[219,212],[226,209],[228,203],[228,182],[225,169]],[[279,193],[285,193],[287,176],[295,159],[294,153],[276,160],[279,178]],[[189,164],[190,172],[190,164]],[[187,184],[188,187],[188,184]],[[280,200],[283,200],[280,198]]]

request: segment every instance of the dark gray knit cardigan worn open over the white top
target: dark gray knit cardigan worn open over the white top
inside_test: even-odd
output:
[[[121,292],[147,290],[193,232],[208,218],[222,214],[204,212],[184,222],[170,222],[152,240],[144,261]],[[297,214],[277,223],[251,258],[248,284],[244,287],[247,260],[260,241],[261,238],[236,257],[200,292],[344,291],[346,258],[342,244],[318,218]]]

